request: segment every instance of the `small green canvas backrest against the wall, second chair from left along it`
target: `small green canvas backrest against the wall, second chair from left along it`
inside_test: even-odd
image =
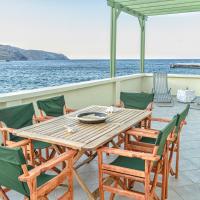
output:
[[[43,110],[46,115],[58,117],[63,115],[63,107],[65,105],[64,96],[57,96],[49,99],[37,101],[38,108]]]

